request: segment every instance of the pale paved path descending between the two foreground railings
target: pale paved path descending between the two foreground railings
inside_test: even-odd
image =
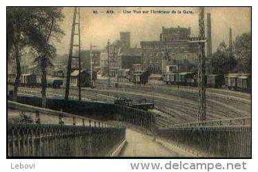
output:
[[[121,151],[121,156],[146,156],[146,157],[190,157],[194,156],[178,147],[168,149],[152,136],[126,129],[127,144]]]

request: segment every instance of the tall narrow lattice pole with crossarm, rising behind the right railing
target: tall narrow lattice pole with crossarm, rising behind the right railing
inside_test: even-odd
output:
[[[206,120],[204,7],[199,7],[198,122]]]

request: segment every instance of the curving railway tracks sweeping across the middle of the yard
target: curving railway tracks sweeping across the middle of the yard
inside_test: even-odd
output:
[[[40,88],[19,88],[19,91],[28,92],[41,96]],[[153,92],[154,91],[154,92]],[[63,97],[64,89],[48,89],[47,96]],[[192,94],[173,94],[167,90],[132,89],[132,88],[103,88],[82,89],[82,99],[95,100],[106,103],[113,103],[117,97],[127,97],[132,99],[146,98],[154,100],[157,124],[165,127],[171,124],[196,121],[197,98]],[[77,88],[70,89],[70,98],[78,99]],[[225,103],[228,103],[225,105]],[[239,104],[243,104],[239,106]],[[237,118],[250,116],[250,105],[236,101],[207,99],[207,120],[220,118]]]

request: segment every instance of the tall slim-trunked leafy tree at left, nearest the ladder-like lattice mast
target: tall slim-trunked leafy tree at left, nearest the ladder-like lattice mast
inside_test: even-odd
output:
[[[51,59],[56,56],[56,49],[52,39],[59,41],[64,34],[59,23],[63,21],[62,8],[44,7],[34,8],[34,25],[29,28],[28,35],[31,45],[37,50],[38,56],[34,62],[41,67],[42,107],[46,107],[47,67],[52,66]]]

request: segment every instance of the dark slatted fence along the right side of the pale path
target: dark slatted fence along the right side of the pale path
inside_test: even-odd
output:
[[[157,137],[206,157],[251,157],[251,127],[248,125],[157,129]]]

